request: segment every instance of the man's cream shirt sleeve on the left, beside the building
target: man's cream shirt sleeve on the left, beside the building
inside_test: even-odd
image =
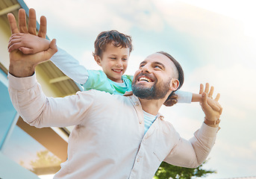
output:
[[[16,111],[29,125],[37,128],[79,125],[86,119],[95,101],[95,91],[77,92],[64,98],[48,98],[36,75],[16,78],[8,75],[10,99]]]

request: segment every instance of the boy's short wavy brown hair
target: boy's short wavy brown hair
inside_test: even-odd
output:
[[[116,47],[129,48],[130,53],[133,50],[131,36],[122,34],[116,30],[102,31],[94,42],[95,51],[93,52],[93,56],[98,55],[102,57],[102,52],[109,43],[112,43]]]

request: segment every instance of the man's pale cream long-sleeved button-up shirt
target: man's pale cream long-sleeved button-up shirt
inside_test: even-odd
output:
[[[28,124],[37,128],[75,125],[68,160],[54,178],[151,179],[163,160],[197,167],[205,161],[218,131],[203,123],[188,141],[158,114],[144,135],[143,109],[136,96],[90,90],[47,98],[36,75],[15,78],[9,74],[9,92]]]

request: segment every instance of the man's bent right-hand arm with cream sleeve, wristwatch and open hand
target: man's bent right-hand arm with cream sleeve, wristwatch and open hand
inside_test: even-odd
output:
[[[204,86],[200,85],[200,95],[202,95],[202,110],[205,113],[205,119],[213,122],[219,119],[222,113],[222,107],[219,105],[220,110],[214,110],[207,104],[207,97],[213,95],[209,92],[209,84],[206,84],[205,91]],[[213,91],[212,91],[213,92]],[[219,94],[214,99],[217,104],[219,101]],[[208,122],[204,122],[202,127],[195,132],[194,136],[190,139],[182,139],[177,134],[178,138],[174,148],[171,148],[168,156],[165,158],[167,163],[171,163],[175,166],[183,166],[188,168],[196,168],[201,165],[210,154],[210,150],[216,140],[216,133],[219,130],[219,123],[216,125],[210,125]]]

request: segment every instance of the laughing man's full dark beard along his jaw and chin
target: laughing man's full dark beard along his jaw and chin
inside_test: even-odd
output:
[[[171,84],[171,79],[167,82],[161,82],[157,84],[157,81],[154,81],[154,85],[152,87],[143,87],[141,84],[135,84],[137,81],[134,80],[133,84],[131,85],[132,92],[138,98],[143,99],[160,99],[164,98],[169,92],[169,87]]]

